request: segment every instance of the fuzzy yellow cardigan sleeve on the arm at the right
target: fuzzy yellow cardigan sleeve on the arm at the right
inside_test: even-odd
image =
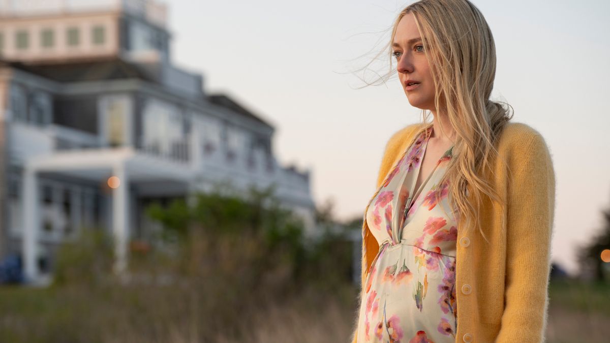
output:
[[[545,342],[553,236],[555,175],[550,151],[536,132],[520,142],[512,163],[506,227],[506,287],[497,343]]]

